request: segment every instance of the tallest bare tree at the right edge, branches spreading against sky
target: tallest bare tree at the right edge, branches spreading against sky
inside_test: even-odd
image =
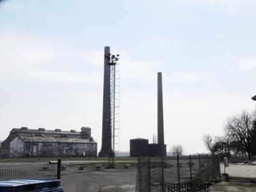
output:
[[[253,114],[243,111],[239,115],[227,119],[225,130],[227,137],[239,143],[240,147],[248,154],[248,159],[252,159],[252,131],[253,131]]]

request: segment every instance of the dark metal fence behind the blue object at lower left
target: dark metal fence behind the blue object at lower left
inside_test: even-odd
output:
[[[0,161],[0,180],[60,179],[61,159]]]

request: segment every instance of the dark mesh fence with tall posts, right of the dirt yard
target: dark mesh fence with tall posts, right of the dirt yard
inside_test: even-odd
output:
[[[218,156],[139,157],[136,191],[164,191],[185,180],[220,180]]]

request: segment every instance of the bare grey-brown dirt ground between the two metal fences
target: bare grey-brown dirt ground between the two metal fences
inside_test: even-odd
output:
[[[136,169],[77,170],[61,172],[61,186],[68,191],[135,191]]]

